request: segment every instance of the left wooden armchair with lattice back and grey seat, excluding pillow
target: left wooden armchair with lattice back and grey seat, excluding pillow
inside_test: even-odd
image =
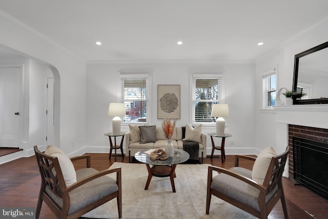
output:
[[[121,218],[120,168],[99,172],[90,168],[90,155],[72,157],[70,159],[71,161],[86,159],[87,168],[77,171],[74,170],[76,173],[76,182],[66,186],[67,182],[63,176],[63,172],[66,170],[63,169],[63,164],[60,164],[58,161],[58,157],[40,152],[37,146],[34,146],[34,151],[42,180],[35,213],[36,218],[40,215],[43,201],[49,206],[57,218],[78,218],[112,200],[114,197],[117,198],[118,217]],[[116,180],[106,176],[109,173],[116,173]]]

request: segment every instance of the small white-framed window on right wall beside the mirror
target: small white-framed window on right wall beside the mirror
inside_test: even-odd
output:
[[[263,108],[270,109],[276,105],[277,66],[262,71]]]

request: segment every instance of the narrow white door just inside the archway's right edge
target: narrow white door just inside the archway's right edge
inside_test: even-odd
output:
[[[54,145],[54,79],[47,79],[47,145]]]

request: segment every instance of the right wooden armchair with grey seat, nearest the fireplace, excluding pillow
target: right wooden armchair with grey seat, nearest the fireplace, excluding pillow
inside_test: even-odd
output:
[[[288,151],[289,147],[282,154],[271,158],[268,171],[264,173],[262,185],[252,180],[252,171],[238,167],[240,158],[255,161],[256,157],[236,155],[235,167],[229,170],[209,166],[206,213],[209,214],[211,196],[215,195],[258,218],[268,218],[280,199],[284,217],[288,218],[281,181]],[[220,174],[213,177],[213,170]]]

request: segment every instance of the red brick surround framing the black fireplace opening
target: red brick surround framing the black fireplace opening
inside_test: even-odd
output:
[[[293,167],[293,137],[301,137],[316,142],[328,143],[328,129],[315,128],[309,126],[300,125],[288,125],[288,144],[290,146],[289,151],[289,178],[294,179],[294,167]]]

